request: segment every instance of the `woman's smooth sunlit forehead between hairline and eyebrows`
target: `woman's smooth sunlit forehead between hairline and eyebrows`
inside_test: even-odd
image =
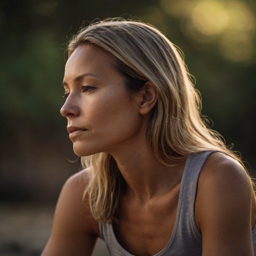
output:
[[[79,45],[67,59],[65,76],[76,75],[81,72],[109,72],[113,71],[113,57],[103,49],[90,44]]]

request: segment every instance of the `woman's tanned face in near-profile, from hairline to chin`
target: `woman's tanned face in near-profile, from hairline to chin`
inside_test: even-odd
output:
[[[111,61],[102,49],[83,44],[66,62],[66,101],[60,112],[67,118],[69,138],[79,156],[114,153],[141,134],[138,102],[128,95],[123,76]]]

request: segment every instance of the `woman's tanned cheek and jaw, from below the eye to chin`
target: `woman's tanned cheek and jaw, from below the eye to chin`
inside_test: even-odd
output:
[[[139,134],[142,127],[137,107],[123,97],[87,101],[83,115],[90,130],[73,144],[77,155],[111,150]]]

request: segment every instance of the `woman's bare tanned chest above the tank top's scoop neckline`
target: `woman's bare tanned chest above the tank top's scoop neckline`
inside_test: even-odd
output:
[[[170,239],[177,212],[179,186],[147,205],[121,204],[113,230],[120,245],[134,255],[153,255]]]

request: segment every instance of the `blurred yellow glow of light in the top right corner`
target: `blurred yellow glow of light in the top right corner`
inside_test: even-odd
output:
[[[183,32],[200,43],[214,42],[230,61],[255,58],[255,17],[246,2],[237,0],[161,0],[162,9],[182,19]]]

